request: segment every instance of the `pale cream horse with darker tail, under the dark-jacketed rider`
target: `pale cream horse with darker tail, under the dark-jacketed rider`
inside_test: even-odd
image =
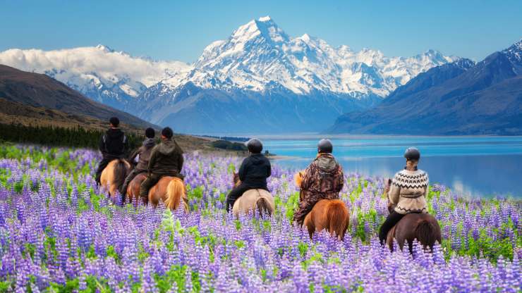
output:
[[[236,187],[241,184],[238,173],[233,175],[233,185]],[[259,212],[260,215],[267,213],[269,216],[274,213],[275,203],[274,197],[265,189],[248,189],[233,204],[232,213],[236,218],[239,213],[248,213],[249,211]]]

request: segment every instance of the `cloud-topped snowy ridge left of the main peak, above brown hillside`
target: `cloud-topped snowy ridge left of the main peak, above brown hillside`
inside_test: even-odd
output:
[[[103,45],[54,51],[9,49],[0,52],[0,63],[45,73],[91,99],[120,109],[147,87],[185,74],[190,68],[178,61],[136,58]]]

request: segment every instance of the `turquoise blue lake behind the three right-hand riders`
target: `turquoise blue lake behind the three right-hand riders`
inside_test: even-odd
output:
[[[282,156],[274,164],[301,169],[317,154],[320,135],[258,136],[265,150]],[[430,182],[471,197],[522,198],[522,137],[327,136],[345,173],[392,177],[403,152],[420,149],[419,168]]]

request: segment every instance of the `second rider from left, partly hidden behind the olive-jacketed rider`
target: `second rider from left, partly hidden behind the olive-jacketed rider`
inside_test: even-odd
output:
[[[120,194],[123,200],[125,200],[125,194],[127,192],[127,187],[130,181],[132,181],[136,175],[147,172],[150,153],[152,152],[152,148],[156,145],[156,141],[154,140],[155,135],[156,133],[154,132],[154,129],[148,127],[145,130],[145,140],[143,141],[142,146],[135,150],[128,159],[128,161],[135,166],[134,169],[130,171],[128,176],[125,178],[125,181],[121,187]],[[136,157],[138,157],[138,163],[136,163]]]

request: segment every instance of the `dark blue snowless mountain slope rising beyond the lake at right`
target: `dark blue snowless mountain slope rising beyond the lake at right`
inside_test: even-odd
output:
[[[522,39],[476,64],[432,68],[367,111],[346,113],[334,133],[522,135]]]

